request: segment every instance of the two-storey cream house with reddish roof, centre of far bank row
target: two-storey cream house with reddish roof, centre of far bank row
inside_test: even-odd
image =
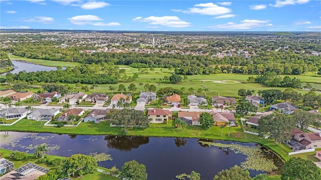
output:
[[[148,109],[147,115],[150,123],[162,123],[172,118],[172,111],[160,108]]]

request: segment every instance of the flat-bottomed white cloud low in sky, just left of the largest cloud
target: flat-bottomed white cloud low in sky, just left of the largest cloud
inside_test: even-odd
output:
[[[136,17],[137,18],[137,17]],[[149,16],[145,18],[138,18],[135,21],[148,22],[151,25],[164,25],[168,27],[188,27],[191,26],[190,22],[181,20],[178,16]]]

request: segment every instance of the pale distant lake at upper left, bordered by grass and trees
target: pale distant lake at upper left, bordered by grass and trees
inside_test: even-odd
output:
[[[15,67],[13,71],[10,71],[11,73],[19,73],[20,71],[23,71],[23,70],[26,70],[27,72],[57,70],[57,67],[48,67],[48,66],[37,65],[30,62],[23,62],[23,61],[17,61],[17,60],[11,60],[11,61]],[[63,67],[63,69],[66,69],[66,67]]]

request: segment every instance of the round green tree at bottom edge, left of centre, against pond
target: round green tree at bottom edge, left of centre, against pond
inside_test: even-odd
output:
[[[136,160],[125,162],[121,166],[121,178],[130,180],[144,180],[147,179],[146,166],[138,163]]]

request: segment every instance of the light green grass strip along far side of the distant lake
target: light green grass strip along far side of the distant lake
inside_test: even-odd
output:
[[[44,60],[44,59],[33,59],[33,58],[26,58],[26,57],[20,57],[17,55],[10,55],[11,60],[23,60],[32,62],[34,64],[44,65],[44,66],[62,66],[62,67],[74,67],[76,65],[80,65],[79,62],[67,62],[67,61],[56,61],[56,60]]]

